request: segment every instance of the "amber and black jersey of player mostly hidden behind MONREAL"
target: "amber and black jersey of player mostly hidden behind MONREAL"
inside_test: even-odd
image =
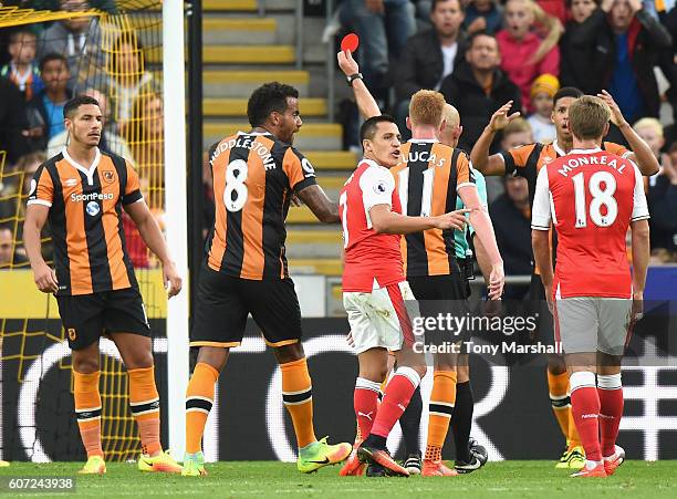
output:
[[[632,150],[613,142],[603,142],[602,149],[623,158],[627,158],[632,154]],[[535,181],[541,168],[556,158],[566,155],[558,145],[558,141],[552,144],[527,144],[509,150],[502,150],[499,154],[506,163],[506,175],[517,175],[527,179],[529,185],[529,206],[533,204]]]

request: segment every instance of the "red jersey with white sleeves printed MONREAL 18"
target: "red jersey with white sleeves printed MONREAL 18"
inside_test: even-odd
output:
[[[558,231],[555,298],[631,298],[631,221],[649,218],[642,174],[602,149],[574,149],[541,168],[531,227]]]

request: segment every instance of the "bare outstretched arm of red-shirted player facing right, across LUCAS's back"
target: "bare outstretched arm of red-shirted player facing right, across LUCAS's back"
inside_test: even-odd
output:
[[[412,233],[428,229],[465,230],[467,209],[458,209],[438,217],[408,217],[396,214],[389,205],[369,208],[372,227],[377,233]]]

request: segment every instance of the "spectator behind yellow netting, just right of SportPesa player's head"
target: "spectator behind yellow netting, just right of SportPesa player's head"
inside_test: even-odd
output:
[[[150,92],[153,74],[144,69],[144,51],[136,33],[125,32],[113,43],[110,61],[108,95],[113,100],[113,118],[123,126],[132,118],[132,106],[139,95]]]

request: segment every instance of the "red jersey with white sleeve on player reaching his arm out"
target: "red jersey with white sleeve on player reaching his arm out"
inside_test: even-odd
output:
[[[338,197],[343,223],[343,291],[371,292],[405,280],[399,242],[402,236],[376,233],[369,209],[389,205],[402,214],[395,179],[387,168],[363,159]]]

